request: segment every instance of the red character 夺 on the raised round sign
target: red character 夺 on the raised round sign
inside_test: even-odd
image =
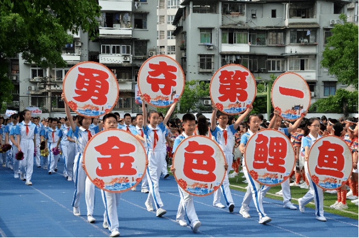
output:
[[[177,83],[175,79],[177,78],[176,74],[172,72],[177,72],[177,68],[173,65],[167,65],[165,61],[159,61],[159,64],[149,64],[149,68],[153,69],[148,72],[147,82],[151,84],[151,90],[153,92],[158,92],[161,90],[163,95],[170,95],[172,93],[172,87],[176,86]],[[160,77],[160,75],[162,75]],[[162,88],[159,85],[163,85]]]

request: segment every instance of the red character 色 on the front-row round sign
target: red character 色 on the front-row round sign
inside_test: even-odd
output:
[[[196,141],[188,142],[185,148],[185,163],[183,165],[183,174],[187,178],[201,181],[213,182],[216,180],[216,175],[213,171],[216,168],[216,161],[212,157],[214,149],[208,145],[199,145]],[[197,173],[203,171],[203,173]]]

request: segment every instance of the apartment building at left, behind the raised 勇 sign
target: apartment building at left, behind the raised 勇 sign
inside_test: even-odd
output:
[[[62,81],[67,71],[82,61],[106,65],[116,76],[120,89],[113,111],[141,111],[134,102],[134,86],[143,62],[157,54],[158,0],[99,0],[99,36],[89,41],[87,32],[74,35],[74,42],[64,46],[62,58],[66,68],[39,68],[19,59],[11,60],[17,110],[27,106],[42,107],[43,112],[63,111]],[[14,61],[14,64],[13,64]],[[17,64],[17,65],[16,65]],[[16,100],[17,99],[17,100]],[[16,109],[16,108],[15,108]]]

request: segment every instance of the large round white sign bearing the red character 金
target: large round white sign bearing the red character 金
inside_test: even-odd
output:
[[[87,143],[83,164],[96,187],[120,193],[135,186],[145,176],[147,155],[142,143],[131,133],[108,129]]]

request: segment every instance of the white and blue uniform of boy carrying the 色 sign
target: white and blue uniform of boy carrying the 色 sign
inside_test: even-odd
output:
[[[185,132],[183,132],[180,136],[177,136],[173,143],[173,150],[176,151],[177,146],[186,139],[188,136]],[[194,223],[198,221],[198,217],[196,214],[195,206],[193,203],[193,195],[187,193],[185,190],[183,190],[178,184],[178,191],[180,192],[180,204],[178,205],[177,209],[177,216],[176,221],[180,223],[180,221],[185,221],[185,215],[187,216],[187,219],[191,225],[191,228],[193,228]]]

